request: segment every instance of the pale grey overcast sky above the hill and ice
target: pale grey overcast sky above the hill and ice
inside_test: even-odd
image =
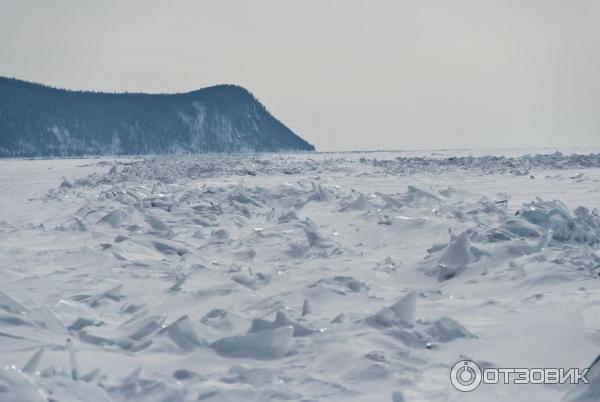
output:
[[[597,0],[0,0],[0,75],[235,83],[318,150],[600,146]]]

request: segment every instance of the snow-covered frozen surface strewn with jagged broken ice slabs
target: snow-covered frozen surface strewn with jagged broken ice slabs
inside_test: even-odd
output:
[[[2,160],[0,400],[600,400],[583,152]]]

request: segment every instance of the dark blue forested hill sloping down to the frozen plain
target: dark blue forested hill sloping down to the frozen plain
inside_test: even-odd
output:
[[[68,91],[0,77],[0,157],[314,150],[247,90]]]

